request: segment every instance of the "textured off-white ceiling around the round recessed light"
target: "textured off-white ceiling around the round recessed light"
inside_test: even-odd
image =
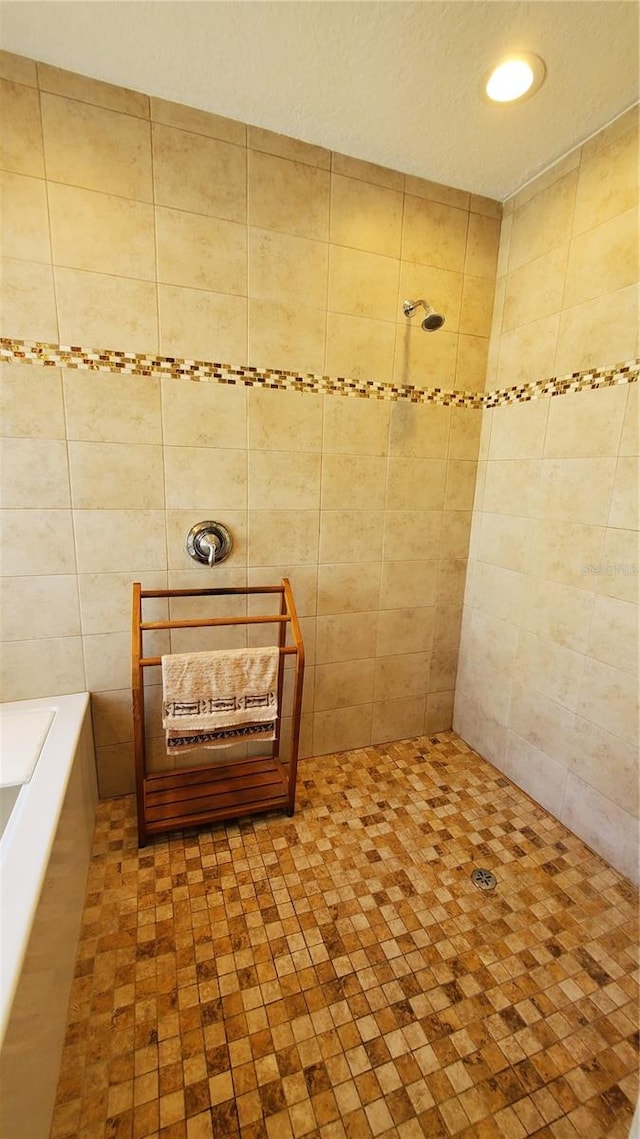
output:
[[[631,0],[8,0],[9,51],[506,198],[638,100]],[[491,106],[507,51],[535,97]]]

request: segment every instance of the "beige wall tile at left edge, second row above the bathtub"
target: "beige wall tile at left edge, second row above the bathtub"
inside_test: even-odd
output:
[[[77,637],[80,612],[74,575],[6,577],[0,591],[0,629],[3,641]],[[6,649],[10,654],[10,649]]]

